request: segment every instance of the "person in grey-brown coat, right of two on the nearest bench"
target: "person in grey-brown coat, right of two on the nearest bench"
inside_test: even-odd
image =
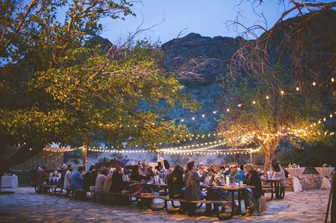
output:
[[[184,191],[184,198],[186,200],[202,200],[205,196],[202,195],[200,182],[204,181],[206,175],[199,176],[196,172],[195,162],[189,162],[186,167],[188,168],[188,173],[184,176],[184,182],[186,183],[186,190]],[[188,203],[187,212],[188,215],[194,216],[196,210],[196,204]]]

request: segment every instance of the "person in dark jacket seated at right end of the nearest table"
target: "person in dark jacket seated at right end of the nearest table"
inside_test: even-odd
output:
[[[252,215],[255,210],[255,201],[258,200],[262,196],[262,181],[260,180],[259,174],[257,171],[254,171],[251,165],[246,165],[244,167],[244,171],[246,173],[246,181],[247,185],[254,185],[255,188],[247,188],[242,191],[242,196],[244,198],[245,207],[246,207],[246,215]]]

